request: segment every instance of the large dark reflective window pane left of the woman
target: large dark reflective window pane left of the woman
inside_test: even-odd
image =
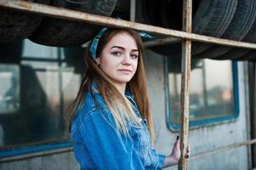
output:
[[[82,81],[84,48],[24,40],[1,43],[0,52],[0,156],[21,147],[67,142],[64,114]]]

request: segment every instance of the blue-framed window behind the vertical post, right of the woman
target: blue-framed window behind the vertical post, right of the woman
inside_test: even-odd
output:
[[[181,65],[168,58],[168,125],[179,128]],[[236,62],[192,59],[190,125],[229,120],[238,116]]]

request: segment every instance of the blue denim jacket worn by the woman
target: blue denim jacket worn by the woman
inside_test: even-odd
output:
[[[110,110],[102,96],[88,91],[81,109],[71,124],[71,139],[81,170],[84,169],[162,169],[165,156],[151,146],[146,120],[142,119],[133,96],[133,104],[143,127],[128,122],[130,138],[117,131]]]

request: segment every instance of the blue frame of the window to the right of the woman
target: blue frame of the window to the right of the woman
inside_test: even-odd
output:
[[[196,121],[196,122],[189,122],[190,128],[197,128],[197,127],[205,127],[205,126],[213,126],[220,123],[226,123],[230,121],[235,121],[239,116],[239,87],[238,87],[238,71],[237,71],[237,61],[231,61],[232,65],[232,78],[233,78],[233,103],[234,103],[234,112],[232,116],[222,116],[217,118],[211,118],[208,120]],[[173,132],[179,131],[179,124],[175,124],[171,122],[171,108],[169,106],[170,97],[169,97],[169,82],[168,82],[168,56],[164,57],[164,67],[165,67],[165,107],[166,107],[166,123],[168,129]],[[191,80],[192,81],[192,80]]]

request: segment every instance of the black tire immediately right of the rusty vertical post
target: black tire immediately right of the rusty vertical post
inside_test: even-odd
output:
[[[205,36],[221,37],[234,17],[236,6],[237,0],[203,0],[196,12],[195,20],[193,20],[192,31]],[[192,54],[200,54],[211,46],[194,42],[192,43]]]

